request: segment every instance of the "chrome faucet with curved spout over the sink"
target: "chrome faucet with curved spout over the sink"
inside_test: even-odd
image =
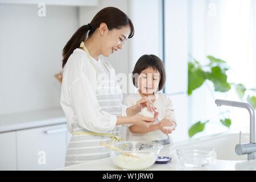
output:
[[[247,154],[247,159],[256,159],[256,143],[255,143],[255,113],[254,108],[250,104],[245,102],[226,101],[226,100],[215,100],[217,106],[233,106],[242,107],[249,111],[250,114],[250,143],[241,144],[241,132],[240,132],[240,143],[236,145],[235,151],[237,155]]]

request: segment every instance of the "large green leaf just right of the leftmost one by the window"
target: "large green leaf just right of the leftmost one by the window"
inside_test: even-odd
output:
[[[211,72],[205,74],[206,78],[213,82],[214,90],[217,92],[227,92],[231,86],[227,82],[225,70],[222,71],[220,67],[212,67]]]

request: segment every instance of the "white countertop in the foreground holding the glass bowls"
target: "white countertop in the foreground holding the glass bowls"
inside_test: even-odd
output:
[[[256,170],[256,160],[248,161],[233,161],[233,160],[216,160],[213,159],[212,164],[209,164],[207,167],[202,168],[189,168],[184,167],[179,158],[177,158],[176,151],[171,149],[172,146],[164,146],[160,152],[160,155],[171,156],[172,160],[167,164],[153,164],[150,168],[146,169],[146,171],[191,171],[191,170],[211,170],[211,171],[221,171],[221,170]],[[90,162],[77,164],[74,166],[64,167],[57,170],[61,171],[117,171],[121,170],[112,162],[112,159],[100,159],[93,160]]]

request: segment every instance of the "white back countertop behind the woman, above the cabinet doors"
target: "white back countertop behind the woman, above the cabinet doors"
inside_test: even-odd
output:
[[[61,108],[0,115],[0,133],[65,123]]]

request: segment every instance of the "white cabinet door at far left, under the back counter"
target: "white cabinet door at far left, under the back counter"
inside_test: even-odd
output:
[[[0,171],[16,170],[16,133],[0,134]]]

